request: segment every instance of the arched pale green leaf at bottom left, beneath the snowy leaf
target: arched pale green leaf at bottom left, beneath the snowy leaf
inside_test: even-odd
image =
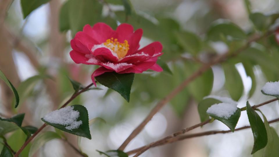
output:
[[[34,139],[29,151],[29,156],[33,156],[37,152],[37,150],[40,149],[48,141],[60,138],[61,137],[53,131],[46,131],[44,133],[41,133]]]

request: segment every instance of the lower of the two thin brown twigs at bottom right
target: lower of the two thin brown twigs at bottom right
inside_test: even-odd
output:
[[[274,122],[278,122],[279,121],[279,118],[277,119],[273,119],[271,121],[269,121],[268,123],[271,124],[271,123],[274,123]],[[251,128],[251,126],[243,126],[241,128],[237,128],[235,129],[235,131],[239,131],[239,130],[243,130],[243,129],[248,129],[248,128]],[[177,136],[175,138],[171,138],[165,142],[162,142],[156,146],[161,146],[161,145],[164,145],[164,144],[169,144],[169,143],[174,143],[174,142],[177,142],[177,141],[181,141],[181,140],[185,140],[187,138],[194,138],[194,137],[200,137],[200,136],[205,136],[205,135],[214,135],[214,134],[217,134],[217,133],[230,133],[232,131],[230,130],[226,130],[226,131],[205,131],[205,132],[201,132],[201,133],[195,133],[195,134],[189,134],[189,135],[181,135],[181,136]],[[153,146],[153,147],[156,147],[156,146]],[[140,147],[140,148],[137,148],[137,149],[134,149],[134,150],[131,150],[131,151],[128,151],[126,154],[128,155],[131,155],[131,154],[135,154],[139,151],[142,151],[144,147]],[[134,157],[137,157],[137,156],[134,156]]]

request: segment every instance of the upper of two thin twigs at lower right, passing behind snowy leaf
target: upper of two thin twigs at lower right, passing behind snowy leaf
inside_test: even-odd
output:
[[[252,106],[252,108],[253,108],[253,109],[256,109],[256,108],[258,108],[258,107],[260,107],[260,106],[269,104],[269,103],[271,103],[271,102],[273,102],[273,101],[277,101],[277,100],[278,100],[278,98],[271,99],[271,100],[265,101],[265,102],[263,102],[263,103],[261,103],[261,104],[254,105],[254,106]],[[243,107],[243,108],[242,108],[242,111],[244,111],[244,110],[246,110],[246,107]],[[184,133],[187,132],[187,131],[190,131],[190,130],[193,130],[193,129],[199,127],[199,126],[203,126],[203,125],[205,125],[205,124],[208,124],[209,122],[210,122],[210,120],[207,120],[207,121],[205,121],[205,122],[201,122],[201,123],[196,124],[196,125],[194,125],[194,126],[191,126],[191,127],[189,127],[189,128],[182,129],[181,131],[178,131],[178,132],[176,132],[176,133],[173,133],[172,135],[169,135],[169,136],[167,136],[167,137],[165,137],[165,138],[162,138],[161,140],[158,140],[158,141],[152,142],[152,143],[150,143],[150,144],[148,144],[148,145],[146,145],[146,146],[143,146],[143,147],[134,149],[134,150],[132,150],[132,151],[129,151],[128,153],[130,153],[130,154],[137,153],[136,155],[138,156],[138,155],[142,154],[144,151],[146,151],[146,150],[148,150],[148,149],[150,149],[150,148],[152,148],[152,147],[156,147],[156,146],[158,146],[158,145],[161,145],[162,143],[165,143],[165,142],[168,141],[168,140],[171,140],[171,139],[175,138],[177,135],[184,134]]]

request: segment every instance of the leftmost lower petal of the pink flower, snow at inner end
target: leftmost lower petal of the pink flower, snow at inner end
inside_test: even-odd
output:
[[[70,56],[75,63],[87,64],[87,65],[99,65],[100,61],[92,56],[90,58],[85,57],[88,54],[80,53],[78,51],[72,50]]]

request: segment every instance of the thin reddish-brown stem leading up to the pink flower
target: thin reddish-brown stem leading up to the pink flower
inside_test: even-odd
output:
[[[94,85],[94,83],[91,83],[90,85],[86,86],[85,88],[83,88],[82,90],[80,90],[79,92],[77,93],[74,93],[71,98],[63,105],[61,106],[60,108],[63,108],[65,106],[67,106],[72,100],[74,100],[79,94],[87,91],[92,85]],[[59,109],[60,109],[59,108]],[[42,131],[42,129],[44,129],[44,127],[46,127],[47,124],[44,123],[30,138],[28,138],[28,140],[25,141],[25,143],[22,145],[22,147],[17,151],[17,153],[15,154],[15,157],[18,157],[19,154],[22,152],[22,150],[27,146],[27,144],[29,142],[31,142],[31,140],[40,132]]]

